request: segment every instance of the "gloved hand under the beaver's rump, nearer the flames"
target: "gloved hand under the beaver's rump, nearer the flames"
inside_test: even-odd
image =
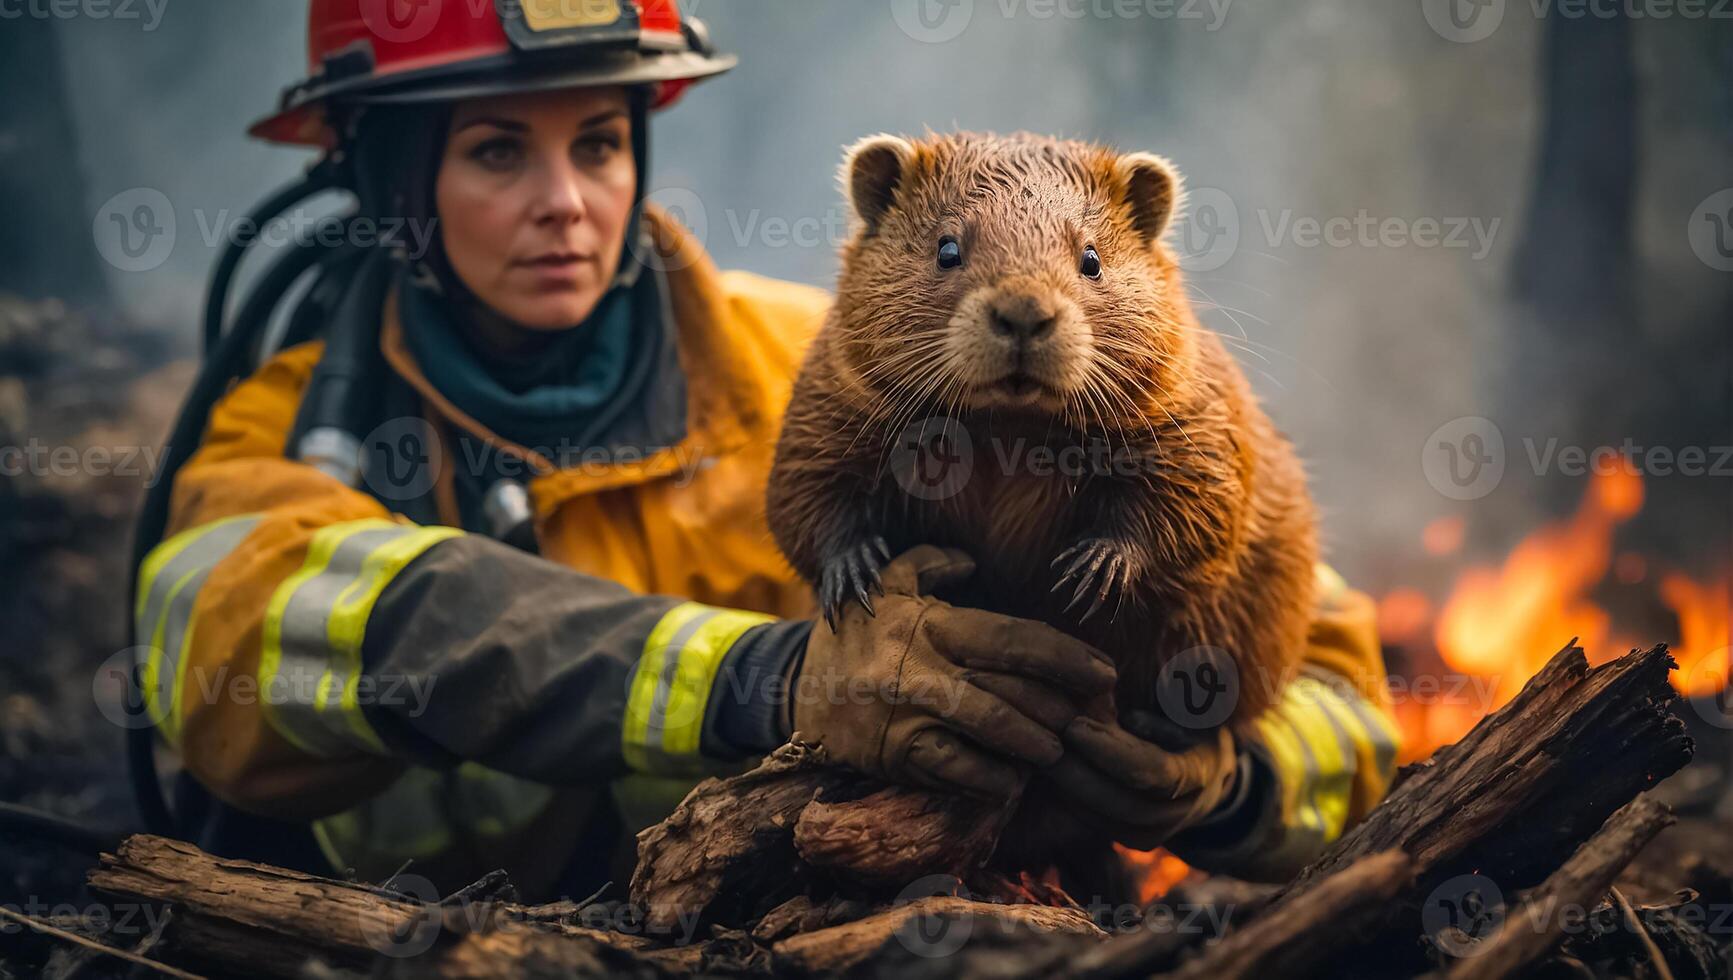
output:
[[[1208,817],[1234,791],[1234,734],[1206,732],[1173,751],[1118,722],[1080,715],[1066,727],[1066,755],[1042,772],[1087,824],[1133,850],[1151,850]]]

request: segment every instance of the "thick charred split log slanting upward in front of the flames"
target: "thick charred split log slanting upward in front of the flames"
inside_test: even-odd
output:
[[[1691,758],[1665,645],[1589,668],[1572,644],[1509,704],[1414,767],[1288,886],[1390,848],[1423,878],[1471,867],[1509,888],[1546,878],[1606,817]],[[1281,900],[1277,900],[1279,904]]]

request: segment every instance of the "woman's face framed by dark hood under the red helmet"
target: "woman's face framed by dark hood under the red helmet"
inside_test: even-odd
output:
[[[636,196],[624,88],[470,99],[452,109],[435,203],[445,255],[494,312],[582,323],[620,264]]]

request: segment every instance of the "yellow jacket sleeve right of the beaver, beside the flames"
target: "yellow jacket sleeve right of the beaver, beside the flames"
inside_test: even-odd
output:
[[[1376,609],[1326,565],[1315,602],[1300,675],[1243,742],[1236,798],[1170,846],[1198,867],[1284,881],[1390,789],[1400,734]]]

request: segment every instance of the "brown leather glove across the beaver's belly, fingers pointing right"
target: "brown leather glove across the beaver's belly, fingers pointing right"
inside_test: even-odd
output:
[[[882,571],[875,614],[849,602],[813,628],[792,678],[794,732],[892,782],[1009,798],[1059,760],[1078,704],[1113,689],[1106,654],[1045,623],[932,598],[974,574],[955,550],[912,548]]]

